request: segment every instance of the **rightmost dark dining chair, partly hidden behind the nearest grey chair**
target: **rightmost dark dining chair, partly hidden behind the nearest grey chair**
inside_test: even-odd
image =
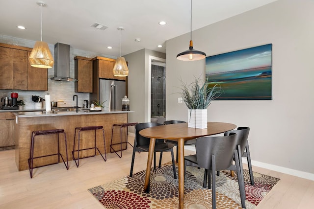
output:
[[[253,178],[253,170],[252,170],[252,163],[251,163],[251,156],[250,156],[249,141],[247,140],[249,133],[250,133],[250,128],[249,127],[238,127],[237,130],[225,132],[224,136],[228,136],[230,133],[236,134],[236,145],[240,145],[240,149],[237,150],[239,153],[240,168],[241,168],[241,170],[243,170],[242,158],[246,158],[248,168],[249,168],[251,185],[254,186],[254,178]],[[238,147],[238,146],[236,146],[236,147]]]

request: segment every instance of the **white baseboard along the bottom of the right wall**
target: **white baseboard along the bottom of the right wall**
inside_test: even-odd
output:
[[[195,151],[195,146],[184,146],[184,149]],[[242,163],[247,164],[246,158],[242,158]],[[252,165],[257,166],[257,167],[262,167],[262,168],[266,168],[269,170],[274,170],[277,172],[281,172],[281,173],[285,173],[285,174],[289,174],[292,176],[297,176],[300,178],[309,179],[309,180],[314,181],[314,174],[313,173],[308,173],[308,172],[304,172],[304,171],[300,171],[300,170],[294,170],[291,168],[286,168],[286,167],[268,164],[268,163],[262,163],[259,161],[252,161],[251,160],[251,163],[252,163]]]

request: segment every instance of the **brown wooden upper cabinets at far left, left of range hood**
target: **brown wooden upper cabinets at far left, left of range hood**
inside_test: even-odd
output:
[[[31,48],[0,44],[0,89],[48,90],[47,69],[28,64]]]

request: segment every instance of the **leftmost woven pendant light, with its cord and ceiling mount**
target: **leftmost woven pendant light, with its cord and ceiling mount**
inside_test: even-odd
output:
[[[37,2],[41,6],[41,41],[37,41],[30,52],[28,61],[35,68],[52,68],[53,57],[49,50],[48,44],[43,42],[43,7],[46,6],[43,2]]]

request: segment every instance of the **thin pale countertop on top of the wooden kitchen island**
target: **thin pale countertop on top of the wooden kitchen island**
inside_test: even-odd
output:
[[[119,114],[133,113],[134,111],[56,111],[54,113],[45,113],[43,111],[32,112],[14,112],[18,117],[46,117],[46,116],[78,116],[78,115],[94,115],[94,114]]]

